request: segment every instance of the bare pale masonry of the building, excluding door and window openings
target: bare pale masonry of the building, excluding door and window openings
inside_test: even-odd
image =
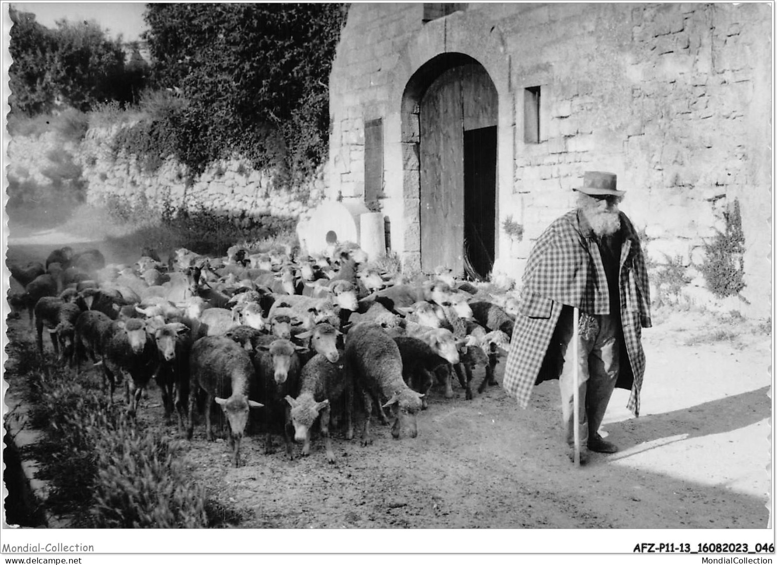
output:
[[[423,66],[430,59],[467,54],[499,96],[499,221],[511,215],[524,225],[521,242],[497,233],[495,270],[520,275],[536,237],[573,205],[584,171],[608,170],[627,191],[622,210],[644,230],[651,260],[678,258],[697,285],[703,244],[725,229],[723,212],[738,201],[747,286],[744,300],[721,307],[768,316],[771,7],[465,6],[423,23],[422,4],[351,5],[331,75],[327,190],[363,197],[364,121],[381,117],[383,211],[392,247],[412,256],[417,171],[405,158],[402,96],[410,77],[434,72]],[[540,139],[527,143],[524,92],[537,86]]]

